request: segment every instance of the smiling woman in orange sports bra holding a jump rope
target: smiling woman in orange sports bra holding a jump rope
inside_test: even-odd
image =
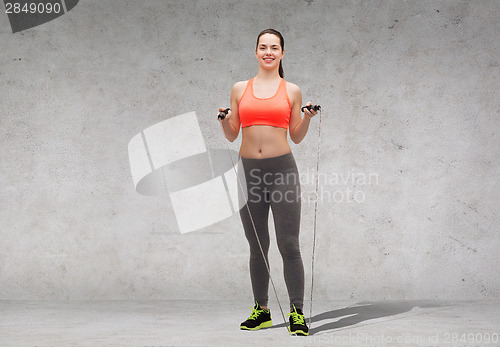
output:
[[[231,110],[220,122],[231,142],[238,137],[240,126],[242,129],[239,155],[248,200],[240,209],[240,217],[250,244],[250,278],[255,307],[240,328],[259,330],[272,325],[267,307],[269,273],[266,266],[271,208],[290,298],[290,333],[308,335],[302,312],[304,266],[299,248],[300,182],[287,141],[287,128],[290,129],[290,139],[300,143],[317,112],[305,109],[304,118],[301,117],[300,88],[283,79],[284,48],[283,36],[278,31],[267,29],[259,34],[255,49],[259,72],[249,81],[234,84]],[[222,111],[225,109],[221,107],[219,112]]]

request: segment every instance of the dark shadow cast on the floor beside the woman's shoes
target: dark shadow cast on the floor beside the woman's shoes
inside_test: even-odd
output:
[[[324,313],[313,316],[311,331],[309,332],[309,335],[328,330],[345,328],[371,319],[396,316],[398,314],[408,312],[414,307],[436,308],[444,306],[448,305],[435,301],[360,302],[346,308],[326,311]],[[321,321],[332,320],[335,318],[337,318],[336,321],[321,325]],[[306,323],[309,326],[309,318],[306,318]],[[285,324],[281,323],[279,325],[273,325],[272,328],[283,328],[284,326]]]

